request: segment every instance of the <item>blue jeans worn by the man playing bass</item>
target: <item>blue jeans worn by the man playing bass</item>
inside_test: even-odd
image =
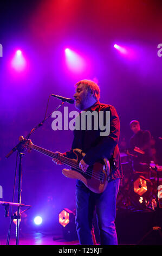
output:
[[[90,191],[80,180],[76,182],[76,230],[81,245],[93,245],[94,210],[98,218],[101,245],[118,245],[115,229],[116,197],[120,179],[108,182],[100,194]]]

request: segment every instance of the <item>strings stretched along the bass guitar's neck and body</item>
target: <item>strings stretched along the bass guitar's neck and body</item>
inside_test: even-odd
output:
[[[35,146],[35,145],[33,145],[33,148],[39,150],[41,153],[44,153],[44,154],[46,154],[46,153],[48,152],[48,155],[51,156],[51,157],[53,157],[53,155],[55,154],[55,153],[53,153],[53,152],[51,152],[51,151],[49,151],[49,150],[40,149],[38,146]],[[46,150],[46,151],[45,151],[45,150]],[[47,154],[46,154],[46,155],[47,155]],[[90,173],[89,170],[87,170],[86,173],[85,173],[85,172],[83,172],[82,169],[78,168],[78,165],[75,164],[71,159],[68,159],[68,158],[65,157],[65,156],[60,156],[60,155],[58,155],[58,156],[59,156],[60,158],[61,158],[61,157],[64,158],[63,161],[64,161],[65,163],[72,162],[72,165],[73,165],[72,167],[74,167],[75,169],[79,170],[80,172],[82,172],[82,173],[84,173],[84,174],[87,174],[87,175],[89,175],[89,176],[92,176],[93,178],[95,178],[95,179],[101,181],[99,175],[94,175],[94,174]],[[59,159],[58,156],[57,156],[57,159]]]

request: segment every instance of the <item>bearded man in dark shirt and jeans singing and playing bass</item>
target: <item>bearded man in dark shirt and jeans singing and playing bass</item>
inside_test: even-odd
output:
[[[101,130],[74,130],[72,149],[66,153],[58,153],[69,159],[75,159],[73,149],[81,149],[85,155],[79,162],[80,169],[86,173],[87,168],[96,161],[106,157],[111,166],[106,189],[95,193],[79,179],[76,179],[76,230],[81,245],[93,245],[92,224],[96,209],[101,245],[118,245],[115,216],[116,197],[119,190],[120,179],[123,178],[120,153],[118,148],[120,122],[116,109],[112,105],[100,103],[100,89],[98,84],[90,80],[81,80],[75,85],[75,107],[80,111],[96,111],[105,114],[110,112],[109,135],[101,136]],[[81,114],[81,113],[80,113]],[[100,120],[99,120],[100,121]],[[87,124],[86,124],[87,125]],[[86,126],[87,127],[87,126]],[[62,162],[53,159],[56,164]]]

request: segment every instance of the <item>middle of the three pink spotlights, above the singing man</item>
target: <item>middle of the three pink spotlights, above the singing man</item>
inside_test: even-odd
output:
[[[85,70],[86,62],[79,54],[70,50],[69,48],[66,48],[65,55],[66,55],[66,64],[71,71],[83,72]]]

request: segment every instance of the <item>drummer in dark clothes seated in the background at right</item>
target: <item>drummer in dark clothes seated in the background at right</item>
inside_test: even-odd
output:
[[[129,124],[134,135],[130,139],[131,151],[137,155],[134,157],[134,169],[141,166],[139,163],[150,163],[152,161],[151,133],[140,128],[139,121],[132,120]],[[138,153],[137,153],[138,152]]]

